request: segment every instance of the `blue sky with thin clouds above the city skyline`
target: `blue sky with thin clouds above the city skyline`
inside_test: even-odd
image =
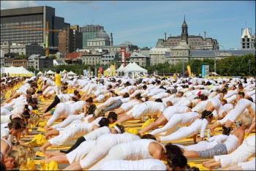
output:
[[[113,45],[129,41],[156,47],[158,39],[181,35],[186,16],[189,35],[217,39],[220,50],[241,48],[241,28],[255,34],[255,1],[1,1],[1,9],[50,6],[71,25],[104,26]]]

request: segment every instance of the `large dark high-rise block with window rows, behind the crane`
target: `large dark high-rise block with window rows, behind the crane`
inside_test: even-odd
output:
[[[44,30],[25,29],[23,27],[63,29],[64,18],[55,16],[55,9],[48,6],[1,9],[1,43],[45,45]],[[16,27],[16,28],[15,28]],[[49,31],[48,46],[58,47],[58,31]]]

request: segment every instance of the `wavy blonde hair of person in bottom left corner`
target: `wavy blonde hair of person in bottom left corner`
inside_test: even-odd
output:
[[[25,145],[16,145],[15,150],[8,153],[12,157],[17,167],[26,167],[27,159],[34,156],[34,151],[31,147]]]

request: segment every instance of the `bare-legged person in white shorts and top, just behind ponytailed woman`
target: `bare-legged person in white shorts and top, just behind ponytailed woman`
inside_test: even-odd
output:
[[[149,123],[144,129],[141,129],[138,133],[144,134],[145,132],[148,132],[154,128],[157,128],[157,126],[164,125],[165,123],[170,121],[171,116],[174,113],[188,113],[191,112],[191,109],[186,106],[173,106],[172,103],[170,103],[170,107],[165,108],[162,115],[157,118],[157,121],[154,121],[153,123]]]

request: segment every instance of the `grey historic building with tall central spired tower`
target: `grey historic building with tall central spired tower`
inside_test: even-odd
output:
[[[198,50],[218,50],[219,44],[217,42],[217,39],[213,39],[211,37],[206,38],[206,31],[204,31],[205,37],[195,36],[195,35],[189,35],[188,34],[188,26],[186,23],[186,20],[184,18],[184,22],[181,26],[181,35],[177,37],[170,37],[165,39],[158,39],[156,47],[176,47],[179,45],[179,42],[181,40],[184,40],[187,42],[187,45],[190,46],[191,49],[198,49]]]

